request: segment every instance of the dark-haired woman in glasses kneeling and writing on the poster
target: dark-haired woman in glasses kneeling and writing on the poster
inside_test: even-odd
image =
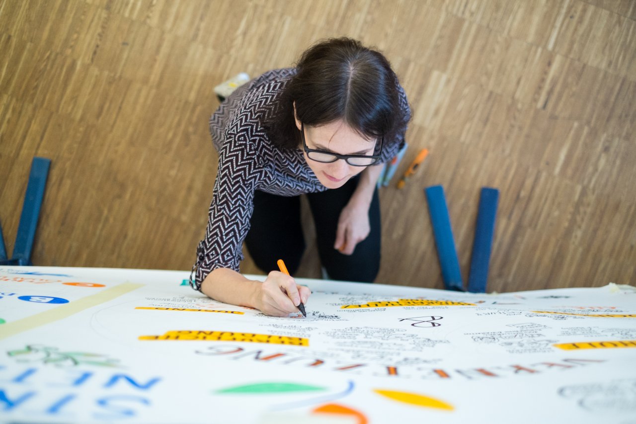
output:
[[[219,167],[191,285],[212,299],[287,316],[310,290],[293,274],[307,194],[330,278],[373,281],[380,264],[379,164],[404,143],[410,109],[385,57],[328,39],[295,68],[266,72],[221,103],[210,129]],[[239,273],[242,243],[265,282]],[[271,272],[270,272],[271,271]]]

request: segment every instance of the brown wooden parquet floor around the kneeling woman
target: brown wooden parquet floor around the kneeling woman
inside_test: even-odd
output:
[[[401,78],[404,162],[431,152],[404,190],[382,189],[378,282],[442,287],[422,191],[441,184],[465,281],[488,186],[489,291],[636,283],[633,0],[2,0],[8,250],[37,155],[52,167],[34,264],[190,269],[216,174],[214,86],[342,35]],[[298,276],[319,276],[314,247]]]

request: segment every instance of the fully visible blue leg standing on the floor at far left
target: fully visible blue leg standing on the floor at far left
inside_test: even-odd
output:
[[[27,192],[24,195],[22,215],[20,215],[18,234],[15,237],[15,246],[11,257],[11,260],[17,261],[18,265],[32,265],[33,239],[38,228],[39,211],[50,164],[51,160],[43,157],[34,157],[31,162],[31,174],[29,175]]]

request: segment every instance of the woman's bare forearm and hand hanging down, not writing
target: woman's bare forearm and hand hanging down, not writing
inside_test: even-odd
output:
[[[354,253],[356,245],[366,239],[371,231],[369,206],[382,169],[382,166],[369,166],[360,173],[356,191],[340,213],[333,247],[344,255]]]

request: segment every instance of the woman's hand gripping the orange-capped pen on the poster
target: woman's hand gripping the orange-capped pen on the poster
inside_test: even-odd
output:
[[[294,278],[279,271],[272,271],[260,286],[254,302],[262,313],[271,316],[288,316],[298,312],[300,302],[307,303],[311,290],[297,285]]]

